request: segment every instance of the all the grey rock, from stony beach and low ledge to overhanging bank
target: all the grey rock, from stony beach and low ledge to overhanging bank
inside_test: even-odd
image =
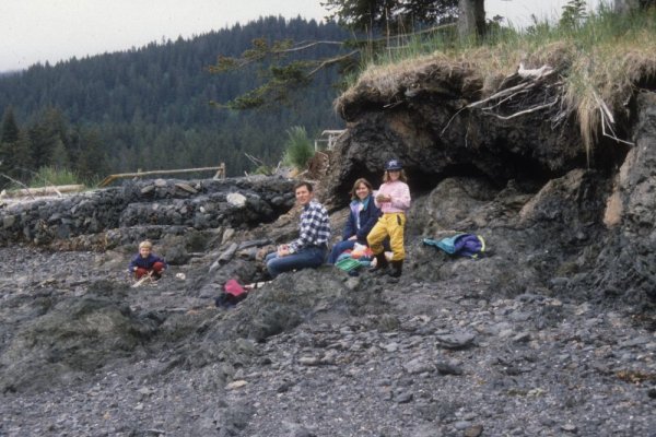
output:
[[[590,158],[560,105],[483,114],[484,78],[450,67],[337,103],[317,196],[338,238],[353,181],[405,163],[398,282],[326,265],[215,307],[297,233],[280,177],[0,205],[0,436],[656,436],[656,94]],[[557,80],[505,78],[530,93],[494,108]],[[454,233],[485,256],[423,244]],[[169,269],[132,287],[144,238]]]

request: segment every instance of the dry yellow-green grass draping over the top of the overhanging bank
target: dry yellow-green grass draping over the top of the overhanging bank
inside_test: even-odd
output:
[[[574,27],[544,21],[523,31],[497,27],[481,45],[454,40],[448,34],[410,40],[370,58],[352,90],[366,84],[391,96],[399,84],[407,85],[436,64],[477,71],[484,83],[513,74],[519,62],[525,68],[548,64],[563,78],[567,110],[577,115],[589,152],[600,133],[604,105],[614,117],[621,116],[641,83],[656,82],[656,8],[619,15],[601,4]]]

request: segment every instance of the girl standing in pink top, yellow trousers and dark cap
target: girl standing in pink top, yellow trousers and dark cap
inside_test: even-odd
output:
[[[374,271],[387,272],[388,262],[385,258],[383,240],[389,236],[391,247],[391,269],[389,275],[399,277],[403,270],[406,250],[403,248],[403,229],[406,227],[406,211],[410,209],[410,188],[401,163],[391,160],[385,166],[383,185],[375,193],[374,201],[380,208],[383,216],[366,237],[366,240],[376,257]]]

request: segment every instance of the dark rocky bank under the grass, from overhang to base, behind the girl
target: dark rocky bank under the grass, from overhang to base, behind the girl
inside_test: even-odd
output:
[[[414,196],[430,193],[411,212],[415,235],[488,235],[517,267],[484,272],[504,277],[502,288],[558,279],[552,291],[588,298],[656,298],[654,93],[637,94],[618,128],[633,145],[599,137],[586,152],[559,104],[558,74],[491,85],[466,63],[408,70],[396,81],[365,76],[338,101],[349,129],[332,154],[331,202],[343,204],[358,177],[379,184],[385,161],[398,157]]]

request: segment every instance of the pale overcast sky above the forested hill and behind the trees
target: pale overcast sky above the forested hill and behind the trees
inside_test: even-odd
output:
[[[128,50],[245,24],[259,16],[321,20],[321,0],[0,0],[0,71]],[[599,0],[588,0],[596,5]],[[567,0],[485,0],[516,25],[559,16]]]

